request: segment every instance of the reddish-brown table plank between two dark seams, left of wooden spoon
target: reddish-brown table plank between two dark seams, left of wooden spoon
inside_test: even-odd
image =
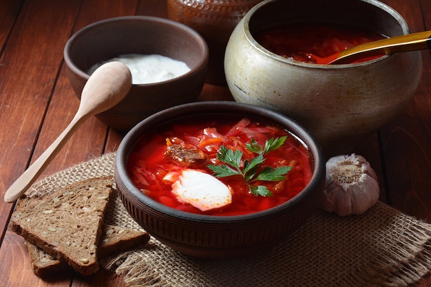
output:
[[[40,5],[50,9],[41,9]],[[76,1],[64,4],[25,1],[1,54],[0,142],[4,150],[0,154],[0,189],[3,193],[27,168],[32,157],[59,74],[63,43],[70,37],[77,11]],[[11,207],[3,201],[0,203],[1,222],[7,220]],[[1,228],[4,227],[2,224]]]

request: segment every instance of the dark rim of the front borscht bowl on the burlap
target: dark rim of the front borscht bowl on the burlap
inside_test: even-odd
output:
[[[269,123],[275,123],[275,125],[283,126],[288,131],[291,131],[294,136],[297,136],[297,138],[299,138],[299,140],[304,143],[309,152],[313,155],[313,176],[310,182],[308,182],[307,186],[300,193],[295,195],[295,197],[291,198],[291,200],[288,200],[287,202],[284,202],[278,206],[274,206],[271,209],[245,215],[202,215],[180,211],[149,198],[142,191],[140,191],[129,178],[127,173],[129,154],[132,152],[132,149],[134,149],[137,140],[145,135],[145,131],[147,129],[151,129],[149,134],[153,134],[154,127],[171,123],[173,119],[190,118],[194,116],[199,117],[208,114],[233,114],[235,112],[238,114],[241,113],[244,116],[249,114],[251,118],[267,120]],[[190,114],[193,115],[189,116]],[[235,114],[233,114],[233,116],[235,116]],[[317,189],[319,185],[322,184],[322,178],[325,178],[326,173],[325,163],[326,162],[324,161],[322,150],[319,147],[317,141],[304,127],[302,127],[302,125],[299,125],[299,123],[297,123],[295,120],[288,118],[278,111],[266,107],[220,100],[178,105],[159,111],[158,113],[145,118],[145,120],[141,121],[138,123],[138,125],[131,129],[120,142],[116,154],[115,173],[122,179],[122,183],[129,193],[132,193],[132,195],[134,195],[134,197],[136,197],[140,202],[145,202],[147,206],[156,211],[161,211],[162,213],[168,214],[170,216],[190,220],[192,222],[240,222],[244,220],[252,220],[253,218],[259,218],[264,215],[279,213],[280,210],[286,209],[288,206],[295,207],[295,205],[301,204],[304,198],[311,196],[310,194],[316,192],[315,189]]]

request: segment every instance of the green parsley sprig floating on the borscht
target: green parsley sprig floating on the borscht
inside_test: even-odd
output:
[[[271,181],[277,182],[284,180],[286,173],[292,167],[263,167],[260,169],[260,164],[265,161],[264,156],[270,151],[280,148],[286,141],[287,136],[281,138],[270,138],[266,140],[264,147],[259,145],[254,138],[246,144],[246,149],[256,153],[257,156],[249,160],[244,160],[244,167],[241,168],[241,161],[243,153],[241,151],[228,149],[221,146],[220,151],[217,153],[217,158],[226,164],[209,164],[207,167],[214,172],[217,178],[225,178],[227,176],[242,176],[244,182],[249,186],[251,193],[255,196],[273,196],[273,193],[263,185],[255,185],[252,182],[256,181]]]

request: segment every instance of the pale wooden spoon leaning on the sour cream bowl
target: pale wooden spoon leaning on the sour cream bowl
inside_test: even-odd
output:
[[[132,74],[129,68],[120,62],[109,62],[99,67],[81,93],[81,103],[70,124],[61,135],[52,142],[41,156],[10,186],[4,195],[5,202],[14,202],[40,176],[42,171],[54,159],[67,140],[87,118],[114,107],[123,100],[132,87]]]

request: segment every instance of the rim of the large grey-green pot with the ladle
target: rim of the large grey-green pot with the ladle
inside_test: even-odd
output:
[[[242,27],[244,30],[244,34],[246,36],[247,41],[249,41],[257,50],[260,50],[264,54],[270,56],[271,58],[273,58],[277,61],[281,61],[284,63],[293,64],[293,65],[304,66],[304,67],[319,68],[319,69],[346,69],[346,68],[351,68],[351,67],[370,65],[371,63],[383,61],[384,59],[387,59],[388,57],[392,56],[392,55],[384,55],[384,56],[381,56],[377,59],[371,59],[371,60],[363,61],[363,62],[359,62],[359,63],[325,65],[325,64],[315,64],[315,63],[304,63],[301,61],[295,61],[295,60],[287,59],[283,56],[280,56],[280,55],[275,54],[269,50],[266,50],[266,48],[263,47],[262,45],[260,45],[260,43],[257,42],[253,38],[253,36],[251,35],[249,22],[250,22],[251,17],[253,17],[253,15],[255,14],[255,12],[257,10],[260,10],[260,8],[262,8],[263,6],[271,5],[271,3],[277,2],[277,1],[280,1],[280,0],[264,0],[260,3],[258,3],[257,5],[253,6],[253,8],[251,8],[249,10],[249,12],[247,12],[245,14],[244,19],[243,19],[244,20],[243,27]],[[400,28],[403,31],[404,35],[408,34],[410,32],[410,29],[408,27],[406,20],[394,8],[386,5],[385,3],[381,3],[380,1],[377,1],[377,0],[357,0],[357,1],[368,3],[371,6],[375,6],[376,8],[380,8],[384,12],[387,12],[388,14],[390,14],[390,16],[392,16],[395,19],[395,21],[397,21],[399,23]]]

